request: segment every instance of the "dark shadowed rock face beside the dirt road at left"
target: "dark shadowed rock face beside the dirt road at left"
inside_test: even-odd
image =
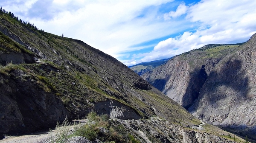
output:
[[[0,84],[1,133],[49,128],[68,115],[59,98],[38,88],[33,81],[2,76],[0,79],[3,81]]]

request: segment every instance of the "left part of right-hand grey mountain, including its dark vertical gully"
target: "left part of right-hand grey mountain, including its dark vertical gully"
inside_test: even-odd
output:
[[[188,108],[198,98],[207,75],[220,59],[207,59],[203,63],[201,59],[196,59],[197,53],[185,55],[194,58],[194,68],[190,66],[191,60],[176,56],[166,64],[145,73],[142,78],[183,107]]]

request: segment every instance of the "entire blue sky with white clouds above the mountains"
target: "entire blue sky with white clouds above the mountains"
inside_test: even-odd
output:
[[[1,0],[0,6],[127,66],[245,42],[256,33],[256,0]]]

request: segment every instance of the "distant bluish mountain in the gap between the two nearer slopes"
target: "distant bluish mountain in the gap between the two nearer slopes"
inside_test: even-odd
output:
[[[132,69],[139,76],[142,76],[144,73],[146,73],[150,70],[153,70],[154,68],[156,68],[162,64],[165,64],[169,59],[172,59],[172,58],[160,59],[160,60],[151,61],[151,62],[142,62],[139,64],[129,66],[129,68]]]

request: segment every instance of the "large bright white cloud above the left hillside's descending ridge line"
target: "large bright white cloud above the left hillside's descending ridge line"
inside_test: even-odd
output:
[[[94,2],[87,3],[76,11],[61,11],[52,20],[35,18],[30,21],[47,32],[58,35],[64,33],[64,36],[81,39],[120,60],[123,56],[120,53],[140,49],[131,48],[131,45],[174,34],[183,27],[189,27],[186,24],[178,26],[182,22],[166,23],[158,19],[157,6],[166,2]],[[152,5],[150,11],[143,13],[144,17],[137,18],[142,9]]]

